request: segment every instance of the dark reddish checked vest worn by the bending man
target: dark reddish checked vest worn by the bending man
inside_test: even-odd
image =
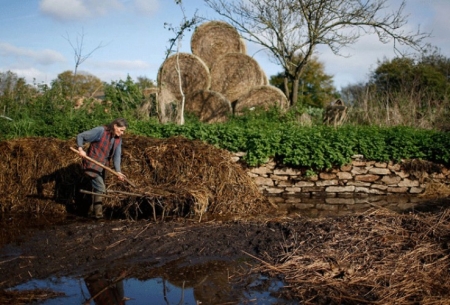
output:
[[[109,162],[111,157],[114,156],[116,148],[120,143],[120,138],[115,138],[113,147],[109,149],[109,146],[111,145],[111,138],[114,137],[114,135],[106,129],[106,126],[104,126],[103,128],[105,130],[103,131],[100,141],[92,142],[89,145],[87,155],[95,161],[106,165],[106,162]],[[101,166],[86,159],[83,159],[83,169],[87,175],[94,178],[100,175],[103,171],[103,168]]]

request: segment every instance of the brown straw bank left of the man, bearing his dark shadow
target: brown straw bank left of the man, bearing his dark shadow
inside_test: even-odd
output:
[[[65,212],[82,176],[69,144],[50,138],[0,142],[1,212]]]

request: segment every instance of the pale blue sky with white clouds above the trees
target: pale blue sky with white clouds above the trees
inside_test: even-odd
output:
[[[399,0],[388,0],[392,9]],[[196,14],[220,20],[203,0],[183,0],[185,16]],[[165,24],[180,25],[183,12],[174,0],[0,0],[0,72],[12,71],[30,84],[50,83],[75,67],[74,47],[83,42],[79,66],[102,81],[125,80],[127,75],[156,80],[169,40],[175,37]],[[406,0],[406,31],[431,33],[426,42],[450,58],[450,0]],[[180,52],[192,53],[187,32]],[[92,53],[91,53],[92,52]],[[258,45],[247,42],[247,54],[255,58],[270,77],[282,71]],[[395,56],[393,44],[382,44],[374,35],[336,56],[319,48],[317,56],[334,85],[365,82],[377,62]]]

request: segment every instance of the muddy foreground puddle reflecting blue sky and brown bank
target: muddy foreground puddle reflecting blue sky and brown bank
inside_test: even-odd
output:
[[[159,268],[135,267],[127,278],[124,272],[95,272],[84,279],[32,280],[12,289],[50,289],[66,295],[40,303],[44,305],[296,304],[276,297],[283,286],[280,281],[250,274],[249,268],[246,262],[180,261]]]

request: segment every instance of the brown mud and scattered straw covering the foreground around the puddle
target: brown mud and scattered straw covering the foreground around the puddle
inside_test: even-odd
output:
[[[287,281],[304,277],[302,284],[291,282],[284,297],[309,299],[305,304],[338,304],[342,300],[345,304],[377,303],[386,301],[381,292],[377,294],[378,285],[369,288],[371,279],[385,276],[386,270],[377,266],[388,266],[393,272],[401,269],[401,260],[405,260],[410,271],[403,274],[406,284],[399,287],[405,289],[418,282],[422,289],[413,289],[411,298],[400,295],[406,292],[397,292],[398,304],[414,304],[412,300],[447,304],[448,206],[449,200],[441,199],[425,202],[422,208],[426,212],[416,207],[414,213],[405,214],[372,210],[322,219],[297,215],[201,223],[186,218],[155,223],[9,217],[3,219],[1,228],[0,288],[4,290],[0,301],[11,298],[6,288],[31,279],[86,277],[94,270],[114,278],[149,279],[168,276],[161,267],[176,262],[193,266],[241,260],[252,263],[253,272],[286,277]],[[423,266],[420,272],[412,269],[416,263]],[[358,267],[350,272],[347,264]],[[425,266],[433,268],[427,271]],[[369,270],[371,279],[367,279]],[[341,299],[336,297],[336,289],[341,290]],[[324,293],[330,298],[324,298]],[[14,299],[8,300],[14,304]]]

